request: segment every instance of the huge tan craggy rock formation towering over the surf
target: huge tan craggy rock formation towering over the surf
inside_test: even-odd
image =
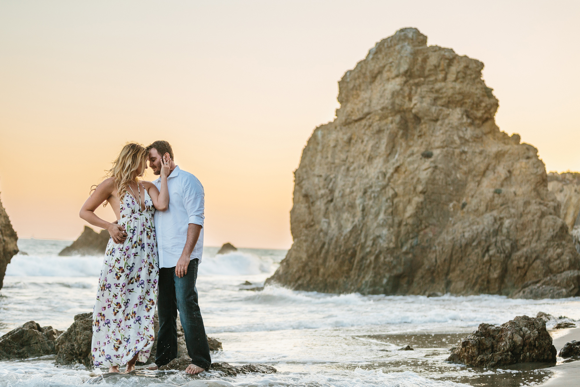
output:
[[[499,131],[483,63],[404,28],[339,82],[295,172],[294,243],[269,283],[503,294],[580,269],[537,150]]]

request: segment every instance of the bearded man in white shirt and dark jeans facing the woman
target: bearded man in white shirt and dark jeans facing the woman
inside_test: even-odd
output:
[[[209,368],[211,357],[205,336],[204,321],[197,303],[197,267],[204,247],[204,187],[189,172],[173,161],[173,150],[166,141],[155,141],[147,147],[149,166],[155,175],[161,173],[165,155],[171,160],[167,178],[169,207],[155,211],[155,234],[159,257],[159,332],[157,334],[157,370],[177,357],[177,310],[185,334],[191,364],[189,374]],[[161,178],[153,182],[161,186]]]

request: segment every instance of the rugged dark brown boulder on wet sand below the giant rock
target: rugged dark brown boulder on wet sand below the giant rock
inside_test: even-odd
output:
[[[556,348],[541,318],[517,316],[499,327],[480,324],[461,341],[447,359],[475,367],[509,366],[515,363],[555,363]]]

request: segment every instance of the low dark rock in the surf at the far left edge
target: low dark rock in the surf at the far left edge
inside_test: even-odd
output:
[[[61,333],[53,327],[41,328],[35,321],[28,321],[0,337],[0,360],[53,355],[55,339]]]

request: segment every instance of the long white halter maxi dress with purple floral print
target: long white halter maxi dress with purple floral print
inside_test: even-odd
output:
[[[144,363],[150,355],[159,273],[154,211],[147,190],[143,211],[133,196],[122,197],[119,225],[127,238],[123,244],[108,242],[93,310],[96,367],[121,366],[137,352]]]

